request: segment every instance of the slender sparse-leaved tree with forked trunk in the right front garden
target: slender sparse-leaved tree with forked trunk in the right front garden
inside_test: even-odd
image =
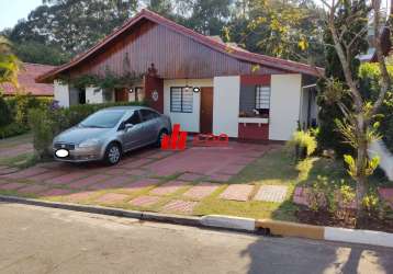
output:
[[[375,47],[381,82],[375,100],[367,101],[359,89],[359,81],[356,77],[358,71],[353,71],[351,64],[353,60],[352,49],[356,48],[357,43],[362,42],[362,36],[368,31],[369,25],[367,24],[357,32],[352,32],[350,26],[357,25],[359,21],[368,20],[368,18],[362,15],[362,11],[353,11],[350,16],[340,22],[339,13],[343,5],[352,7],[358,1],[322,1],[326,7],[326,23],[332,34],[332,46],[337,54],[345,81],[339,81],[339,79],[333,77],[326,77],[325,80],[327,81],[327,89],[336,98],[336,103],[344,115],[344,118],[337,123],[338,128],[346,141],[356,150],[355,159],[347,155],[345,160],[349,167],[349,174],[357,182],[356,196],[358,217],[360,218],[362,217],[362,202],[368,186],[367,178],[378,165],[378,159],[368,158],[370,142],[379,137],[375,128],[378,124],[372,124],[372,122],[390,89],[390,76],[381,42],[381,30],[388,26],[382,20],[381,0],[371,0],[370,9],[373,18],[371,26],[374,32],[372,46]],[[347,94],[351,101],[349,106],[343,102],[343,94]]]

